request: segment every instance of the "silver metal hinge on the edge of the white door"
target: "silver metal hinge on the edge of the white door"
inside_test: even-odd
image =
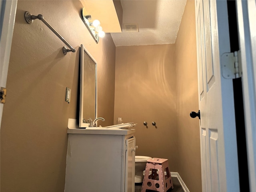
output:
[[[242,76],[241,51],[224,53],[221,56],[222,76],[226,79],[236,79]]]

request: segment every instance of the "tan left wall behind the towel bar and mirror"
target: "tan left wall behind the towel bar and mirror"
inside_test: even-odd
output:
[[[110,34],[94,42],[82,7],[80,1],[18,1],[1,124],[2,192],[64,191],[68,118],[79,113],[80,44],[98,62],[98,116],[113,124],[115,46]],[[42,21],[27,24],[25,11],[42,14],[76,52],[64,56],[65,44]]]

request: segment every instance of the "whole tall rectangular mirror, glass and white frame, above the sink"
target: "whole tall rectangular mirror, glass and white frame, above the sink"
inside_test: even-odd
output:
[[[97,62],[81,45],[79,128],[89,127],[89,118],[97,116]]]

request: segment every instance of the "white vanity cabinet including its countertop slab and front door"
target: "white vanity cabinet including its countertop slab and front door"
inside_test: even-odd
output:
[[[135,130],[68,130],[65,192],[134,192]]]

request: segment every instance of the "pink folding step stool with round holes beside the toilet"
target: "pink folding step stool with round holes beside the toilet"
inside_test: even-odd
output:
[[[152,158],[147,160],[141,192],[146,192],[147,189],[166,192],[170,188],[173,189],[173,184],[168,168],[168,159]]]

